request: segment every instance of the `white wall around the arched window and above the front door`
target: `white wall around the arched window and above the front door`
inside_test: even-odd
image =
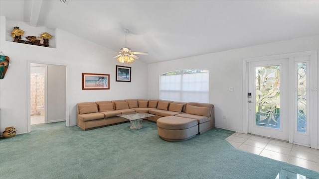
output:
[[[159,75],[164,72],[209,70],[209,102],[215,106],[215,126],[242,132],[243,59],[308,50],[319,50],[319,35],[149,64],[148,95],[159,97]],[[230,87],[234,91],[229,91]]]

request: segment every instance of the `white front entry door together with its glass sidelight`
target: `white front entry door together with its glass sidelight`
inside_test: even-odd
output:
[[[248,133],[317,146],[314,54],[248,62]]]

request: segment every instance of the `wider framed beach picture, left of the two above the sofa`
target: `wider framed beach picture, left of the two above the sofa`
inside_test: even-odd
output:
[[[110,89],[110,75],[82,73],[82,89]]]

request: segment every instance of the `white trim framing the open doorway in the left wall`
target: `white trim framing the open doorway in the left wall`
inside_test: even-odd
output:
[[[27,87],[26,87],[26,91],[27,91],[27,132],[31,132],[31,118],[30,118],[30,115],[31,115],[31,111],[30,111],[30,64],[31,63],[36,63],[36,64],[43,64],[43,65],[61,65],[61,66],[65,66],[65,71],[66,71],[66,126],[70,126],[70,111],[69,111],[69,85],[68,85],[68,82],[69,82],[69,65],[68,64],[63,64],[63,63],[56,63],[56,62],[44,62],[44,61],[34,61],[34,60],[28,60],[27,61],[27,70],[26,70],[26,81],[27,81]],[[45,111],[47,111],[47,105],[45,105]],[[46,115],[46,112],[45,112],[45,115]]]

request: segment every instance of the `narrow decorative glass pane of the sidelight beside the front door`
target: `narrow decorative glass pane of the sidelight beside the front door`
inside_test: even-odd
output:
[[[297,64],[297,132],[307,133],[307,63]]]

